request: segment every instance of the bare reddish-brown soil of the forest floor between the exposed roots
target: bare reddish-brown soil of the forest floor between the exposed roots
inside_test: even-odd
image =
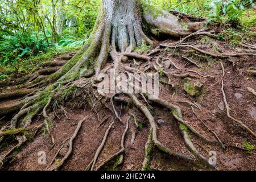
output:
[[[195,43],[196,39],[190,40],[189,43]],[[158,44],[174,43],[176,40],[166,40],[159,42]],[[209,39],[211,42],[211,39]],[[233,49],[226,46],[225,42],[214,40],[218,49],[224,53],[234,53]],[[155,47],[158,46],[155,44]],[[205,42],[200,44],[199,47],[205,51],[213,50],[211,43],[205,46]],[[153,48],[154,49],[154,48]],[[242,49],[240,50],[242,51]],[[210,57],[200,58],[201,56],[192,56],[190,59],[196,61],[199,65],[189,63],[184,59],[183,55],[188,54],[187,48],[179,48],[178,50],[167,50],[152,58],[152,61],[161,56],[163,59],[168,58],[175,63],[179,68],[184,70],[192,70],[200,73],[203,77],[197,75],[193,80],[200,81],[204,85],[204,92],[197,98],[188,96],[184,91],[184,80],[179,77],[173,77],[172,83],[175,85],[175,89],[170,85],[161,84],[159,97],[164,98],[167,101],[173,102],[181,107],[183,111],[183,118],[189,122],[189,125],[195,127],[202,135],[209,139],[215,139],[214,135],[203,125],[199,118],[213,130],[220,138],[221,142],[225,144],[225,149],[220,144],[205,143],[200,138],[191,133],[192,142],[195,144],[197,150],[205,157],[209,158],[210,151],[216,151],[217,164],[216,167],[219,170],[256,170],[256,151],[247,150],[246,146],[256,146],[256,140],[240,125],[227,117],[226,109],[224,105],[224,99],[222,96],[221,79],[224,80],[226,100],[230,107],[230,115],[234,118],[242,121],[251,130],[256,131],[256,97],[250,93],[246,88],[253,89],[256,85],[256,79],[254,76],[249,75],[247,69],[256,67],[255,57],[253,56],[241,56],[241,57],[229,57],[226,59],[212,59]],[[71,54],[72,56],[73,54]],[[55,61],[64,63],[67,60],[63,60],[63,57],[68,57],[69,54],[60,55],[55,58]],[[196,60],[197,58],[197,60]],[[223,63],[225,68],[225,76],[222,78],[222,67],[220,62]],[[142,63],[140,69],[144,69]],[[61,66],[55,66],[52,68],[59,69]],[[173,66],[166,69],[167,72],[179,73],[181,70],[175,69]],[[192,72],[191,72],[192,73]],[[48,74],[48,73],[46,73]],[[18,89],[15,84],[17,80],[11,85],[6,85],[1,82],[0,93],[14,92]],[[168,81],[168,80],[167,80]],[[164,89],[163,89],[164,88]],[[0,100],[0,107],[15,104],[19,101],[20,97],[11,97],[8,99]],[[3,167],[5,170],[44,170],[47,165],[54,158],[57,150],[59,150],[63,141],[72,136],[76,130],[77,123],[87,116],[86,121],[82,124],[81,130],[77,135],[73,143],[73,152],[70,158],[65,162],[62,170],[83,170],[93,159],[94,153],[98,146],[101,144],[101,140],[104,137],[106,129],[109,127],[109,123],[113,121],[115,115],[106,107],[101,104],[96,104],[94,107],[96,111],[92,110],[89,104],[82,102],[82,97],[76,97],[73,100],[69,100],[65,103],[64,107],[61,105],[59,108],[55,108],[49,113],[52,118],[51,133],[55,138],[55,146],[52,147],[51,137],[46,135],[45,130],[38,131],[38,134],[34,138],[28,140],[23,146],[16,149],[13,154],[8,158],[8,162]],[[191,105],[185,104],[188,101],[195,103]],[[80,103],[81,102],[81,103]],[[95,102],[95,101],[94,101]],[[75,107],[74,107],[75,105]],[[182,135],[180,134],[177,123],[174,122],[174,118],[170,114],[170,111],[164,108],[152,106],[152,115],[155,121],[162,119],[164,123],[158,124],[158,139],[176,152],[182,152],[188,156],[193,156],[192,153],[185,146]],[[110,106],[111,107],[111,106]],[[129,117],[129,108],[122,106],[116,102],[115,107],[118,113],[121,113],[121,118],[126,121]],[[193,110],[192,110],[193,108]],[[195,111],[196,115],[193,113]],[[98,113],[98,115],[97,115]],[[139,170],[142,168],[144,159],[144,145],[147,142],[147,135],[150,127],[148,121],[142,113],[137,111],[134,113],[137,117],[137,121],[140,125],[139,131],[136,134],[134,143],[131,143],[131,129],[134,127],[131,124],[126,139],[125,139],[125,157],[123,163],[114,169],[121,170]],[[0,127],[4,126],[6,122],[10,121],[13,115],[6,117],[0,117]],[[99,117],[99,118],[98,118]],[[34,118],[30,127],[35,127],[42,123],[44,118],[41,116]],[[122,130],[121,130],[122,129]],[[108,140],[97,160],[96,166],[103,162],[109,156],[113,155],[119,150],[119,143],[121,142],[121,135],[125,130],[125,126],[121,122],[115,122],[110,133]],[[246,145],[247,144],[247,145]],[[14,144],[4,143],[0,148],[0,156],[5,154],[10,148],[14,147]],[[65,155],[68,150],[68,144],[64,144],[60,150],[60,155]],[[157,170],[200,170],[198,167],[193,167],[188,163],[179,160],[177,158],[170,157],[163,152],[154,151],[152,157],[151,167]],[[246,151],[247,150],[247,151]],[[46,165],[38,163],[38,152],[46,152]],[[57,162],[57,160],[55,160]],[[105,168],[109,169],[109,168]]]

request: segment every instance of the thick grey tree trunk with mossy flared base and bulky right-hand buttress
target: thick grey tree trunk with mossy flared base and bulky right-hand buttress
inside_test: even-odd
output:
[[[44,82],[49,83],[60,77],[61,81],[68,80],[91,75],[92,72],[97,76],[109,53],[117,63],[117,52],[127,53],[142,44],[152,45],[152,40],[143,32],[143,23],[150,31],[157,29],[158,34],[170,36],[188,35],[204,24],[192,23],[183,28],[176,16],[148,6],[139,0],[102,0],[89,41],[74,59]]]

